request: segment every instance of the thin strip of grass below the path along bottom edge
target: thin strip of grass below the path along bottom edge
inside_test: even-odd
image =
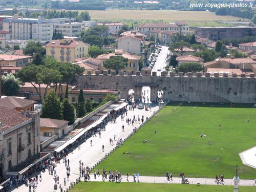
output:
[[[81,182],[72,188],[71,192],[101,192],[101,191],[133,191],[133,192],[155,192],[155,191],[182,191],[182,192],[231,192],[233,186],[218,185],[180,185],[180,184],[156,184],[156,183],[109,183],[109,182]],[[240,192],[255,191],[255,187],[239,187]]]

